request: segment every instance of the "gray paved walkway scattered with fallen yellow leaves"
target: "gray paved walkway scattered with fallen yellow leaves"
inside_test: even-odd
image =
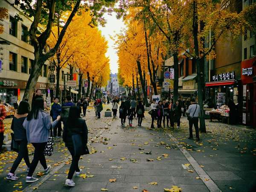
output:
[[[111,108],[107,105],[104,108]],[[163,192],[178,186],[183,192],[249,191],[256,182],[256,132],[206,120],[207,134],[200,141],[188,140],[186,118],[180,129],[151,130],[146,113],[141,127],[122,127],[119,118],[96,119],[92,111],[84,118],[89,128],[90,151],[79,161],[83,177],[73,177],[75,187],[64,187],[70,154],[61,139],[47,157],[53,166],[48,175],[26,183],[26,165],[21,162],[17,181],[4,180],[12,166],[13,152],[0,155],[0,191],[102,191]],[[126,125],[128,122],[125,123]],[[32,154],[32,148],[30,150]],[[10,156],[11,155],[11,156]],[[32,158],[32,155],[29,156]],[[38,164],[36,172],[43,171]],[[86,174],[86,175],[85,175]],[[110,182],[110,179],[116,179]],[[21,182],[21,183],[19,183]],[[149,184],[151,183],[151,184]],[[102,190],[101,190],[102,189]]]

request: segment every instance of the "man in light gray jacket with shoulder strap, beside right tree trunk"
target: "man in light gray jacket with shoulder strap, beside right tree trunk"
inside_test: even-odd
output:
[[[192,133],[192,127],[194,125],[195,127],[195,138],[196,140],[199,139],[199,131],[198,131],[198,114],[200,112],[200,106],[195,103],[195,99],[190,99],[191,105],[189,105],[189,108],[186,113],[191,117],[189,120],[189,139],[193,139],[193,133]]]

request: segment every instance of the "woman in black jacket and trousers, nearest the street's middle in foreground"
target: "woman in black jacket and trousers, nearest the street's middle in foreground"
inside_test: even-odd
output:
[[[70,107],[70,113],[67,118],[67,122],[63,128],[63,141],[65,142],[66,147],[70,151],[72,155],[72,163],[70,166],[70,171],[67,176],[67,180],[65,186],[75,186],[72,177],[74,172],[76,171],[76,177],[79,177],[82,170],[79,169],[78,161],[80,159],[80,155],[75,156],[74,145],[72,141],[72,135],[81,133],[84,144],[87,144],[88,138],[88,129],[84,119],[81,119],[79,108],[75,105]]]

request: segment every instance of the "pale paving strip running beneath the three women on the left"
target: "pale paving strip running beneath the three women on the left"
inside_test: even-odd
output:
[[[105,128],[107,128],[109,125],[111,125],[112,121],[113,121],[113,119],[111,119],[111,122],[108,122],[107,125],[104,126],[104,129],[102,129],[101,131],[99,131],[99,133],[98,133],[95,137],[93,137],[87,144],[92,143],[93,140],[95,140],[97,137],[99,137],[99,135],[101,135],[105,130],[107,130],[107,129],[105,129]],[[64,160],[65,160],[65,159],[61,160],[61,161],[63,161],[63,162],[60,163],[58,166],[53,167],[50,172],[53,172],[53,173],[57,172],[57,171],[58,171],[59,169],[61,169],[61,168],[65,165],[65,163],[66,163],[67,161],[69,161],[70,159],[67,158],[66,161],[64,161]],[[35,189],[33,189],[33,188],[38,188],[41,184],[43,184],[43,183],[44,183],[49,177],[51,177],[52,175],[53,175],[53,174],[49,174],[49,173],[48,173],[45,177],[42,177],[40,180],[38,180],[38,181],[36,181],[35,183],[30,184],[29,186],[27,186],[26,188],[24,188],[23,191],[26,191],[26,192],[33,192],[33,191],[35,190]]]

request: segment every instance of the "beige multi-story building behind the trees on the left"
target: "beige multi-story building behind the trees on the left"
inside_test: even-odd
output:
[[[30,44],[29,37],[25,32],[29,31],[32,20],[20,15],[23,21],[15,21],[14,17],[19,14],[20,10],[17,6],[12,6],[11,3],[14,3],[14,0],[0,1],[0,7],[5,7],[9,13],[8,19],[0,20],[0,24],[4,27],[3,33],[0,34],[0,96],[3,102],[12,105],[17,100],[23,99],[26,83],[34,63],[34,47]],[[46,47],[45,52],[47,51]],[[42,67],[35,87],[35,89],[41,89],[45,97],[55,96],[56,90],[56,71],[50,70],[49,63],[46,61]],[[69,71],[69,68],[63,68],[60,73],[61,96],[64,90],[65,74]],[[55,75],[54,83],[50,83],[50,75]]]

